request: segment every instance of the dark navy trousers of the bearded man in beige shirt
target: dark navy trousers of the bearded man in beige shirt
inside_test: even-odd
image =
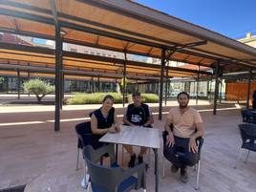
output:
[[[198,162],[198,153],[189,152],[189,139],[174,137],[175,144],[173,147],[167,146],[166,137],[163,139],[163,155],[178,168],[185,168],[186,165],[193,166]]]

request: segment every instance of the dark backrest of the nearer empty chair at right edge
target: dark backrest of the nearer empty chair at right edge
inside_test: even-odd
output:
[[[256,140],[256,124],[252,123],[241,123],[238,125],[241,138],[244,143],[252,143]]]

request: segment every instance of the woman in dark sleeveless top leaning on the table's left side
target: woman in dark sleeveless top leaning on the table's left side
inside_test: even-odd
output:
[[[107,132],[117,133],[120,130],[117,115],[113,107],[114,97],[107,95],[103,98],[102,107],[92,113],[91,128],[94,138],[93,147],[99,148],[104,142],[99,142]]]

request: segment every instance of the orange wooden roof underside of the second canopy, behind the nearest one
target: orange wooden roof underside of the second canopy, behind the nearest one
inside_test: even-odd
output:
[[[46,72],[45,69],[54,71],[55,58],[53,50],[41,48],[41,53],[35,53],[35,48],[24,45],[8,45],[0,43],[0,69],[20,69],[23,71],[41,71]],[[8,46],[7,46],[8,45]],[[8,65],[9,66],[8,66]],[[120,79],[123,74],[124,60],[117,58],[107,58],[103,56],[96,56],[83,53],[69,53],[63,52],[63,69],[65,74],[82,74],[86,76],[112,76],[115,79]],[[160,65],[147,64],[136,61],[126,62],[126,75],[131,79],[144,80],[159,80],[160,79]],[[194,68],[172,68],[168,69],[168,76],[192,76],[199,73],[197,66]],[[188,69],[188,70],[184,70]],[[207,71],[209,68],[206,68]],[[200,72],[203,75],[210,75],[210,73]],[[166,73],[164,74],[166,76]]]

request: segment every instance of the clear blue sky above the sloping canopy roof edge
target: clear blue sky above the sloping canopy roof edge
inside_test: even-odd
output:
[[[135,0],[231,38],[256,34],[256,0]]]

